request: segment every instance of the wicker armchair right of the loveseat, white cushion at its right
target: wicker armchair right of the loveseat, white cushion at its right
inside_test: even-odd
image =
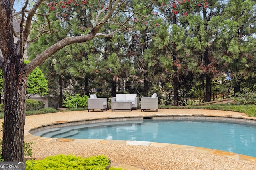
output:
[[[147,109],[156,109],[158,112],[158,97],[153,94],[152,97],[141,98],[141,112]]]

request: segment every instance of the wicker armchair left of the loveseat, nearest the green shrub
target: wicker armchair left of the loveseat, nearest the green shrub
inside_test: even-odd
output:
[[[87,99],[87,102],[88,112],[90,109],[92,109],[92,111],[94,111],[94,109],[101,109],[101,111],[108,109],[107,98],[97,98],[95,94],[90,94],[90,98]]]

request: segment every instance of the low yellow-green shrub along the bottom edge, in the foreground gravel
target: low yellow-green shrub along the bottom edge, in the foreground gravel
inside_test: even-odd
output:
[[[92,156],[82,158],[74,155],[48,156],[42,160],[27,160],[26,169],[29,170],[105,170],[110,164],[106,156]],[[122,170],[122,168],[111,168],[112,170]]]

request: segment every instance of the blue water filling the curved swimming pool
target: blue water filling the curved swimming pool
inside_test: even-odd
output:
[[[253,124],[144,119],[137,122],[97,123],[60,129],[41,136],[172,143],[256,157],[256,126]]]

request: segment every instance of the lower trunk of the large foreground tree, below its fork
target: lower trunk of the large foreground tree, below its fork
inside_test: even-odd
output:
[[[22,161],[26,113],[27,76],[20,72],[19,57],[3,69],[4,78],[4,129],[2,158],[4,161]],[[23,61],[22,61],[23,62]],[[15,64],[15,65],[14,65]]]

